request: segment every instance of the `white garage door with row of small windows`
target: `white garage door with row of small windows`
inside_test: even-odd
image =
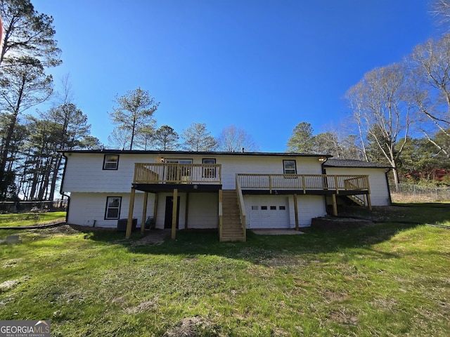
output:
[[[250,228],[289,228],[288,197],[252,197]]]

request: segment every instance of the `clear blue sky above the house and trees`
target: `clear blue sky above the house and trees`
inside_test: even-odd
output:
[[[293,128],[345,120],[345,92],[437,34],[428,0],[32,0],[52,15],[92,136],[108,144],[115,95],[140,86],[158,126],[235,125],[284,152]],[[40,107],[39,109],[45,109]]]

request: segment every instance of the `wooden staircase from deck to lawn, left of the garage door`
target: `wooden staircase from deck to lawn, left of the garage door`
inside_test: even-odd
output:
[[[222,191],[222,212],[220,241],[245,241],[236,190]]]

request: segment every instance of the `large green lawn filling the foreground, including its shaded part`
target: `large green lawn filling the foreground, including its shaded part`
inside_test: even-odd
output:
[[[450,205],[373,213],[386,219],[245,243],[27,230],[0,245],[0,317],[51,319],[52,336],[450,336],[450,230],[420,225]]]

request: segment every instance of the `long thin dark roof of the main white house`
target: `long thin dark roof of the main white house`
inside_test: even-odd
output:
[[[211,155],[232,155],[232,156],[278,156],[278,157],[323,157],[330,158],[329,154],[309,154],[293,152],[217,152],[217,151],[158,151],[158,150],[67,150],[58,151],[61,153],[92,153],[92,154],[201,154]]]

